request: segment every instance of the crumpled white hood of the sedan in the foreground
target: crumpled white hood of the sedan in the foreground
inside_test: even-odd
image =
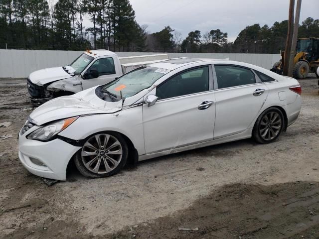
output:
[[[72,96],[63,96],[50,100],[35,109],[30,118],[37,125],[46,122],[89,114],[110,114],[122,110],[123,101],[106,102],[90,88]]]

